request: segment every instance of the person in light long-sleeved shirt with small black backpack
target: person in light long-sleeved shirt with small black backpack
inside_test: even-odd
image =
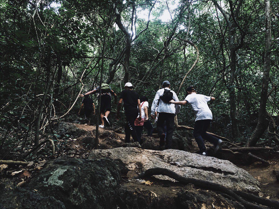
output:
[[[158,135],[160,137],[160,145],[164,145],[164,122],[167,125],[166,136],[166,149],[171,149],[172,146],[172,134],[174,132],[174,116],[179,113],[180,105],[174,105],[169,103],[171,100],[179,101],[176,93],[170,89],[171,84],[169,81],[162,83],[162,89],[159,89],[155,95],[151,106],[151,118],[154,118],[155,109],[158,106],[157,112],[159,113],[157,119]]]

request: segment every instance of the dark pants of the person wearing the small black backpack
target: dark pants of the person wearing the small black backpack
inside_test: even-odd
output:
[[[158,135],[164,134],[164,122],[167,125],[166,149],[171,149],[172,134],[174,132],[174,113],[160,112],[157,120]]]

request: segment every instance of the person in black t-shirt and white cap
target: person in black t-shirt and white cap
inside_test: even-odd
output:
[[[130,142],[130,136],[134,142],[138,142],[139,139],[137,137],[137,132],[135,130],[135,120],[138,117],[139,113],[139,120],[142,120],[142,112],[140,108],[140,96],[137,92],[133,91],[133,85],[128,82],[124,86],[125,90],[123,90],[120,94],[120,100],[117,105],[117,113],[116,113],[116,120],[119,120],[119,111],[122,105],[122,101],[124,103],[124,110],[126,115],[127,123],[125,125],[125,143]]]

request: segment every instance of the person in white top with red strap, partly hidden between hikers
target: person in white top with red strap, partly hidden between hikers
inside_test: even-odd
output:
[[[142,112],[142,121],[144,121],[144,123],[143,123],[143,125],[141,125],[141,124],[137,125],[135,123],[135,129],[137,131],[137,137],[139,139],[139,143],[141,143],[143,128],[147,129],[148,136],[152,136],[152,133],[153,133],[153,126],[148,118],[149,105],[148,105],[147,97],[143,96],[140,98],[140,105],[141,105],[141,112]]]

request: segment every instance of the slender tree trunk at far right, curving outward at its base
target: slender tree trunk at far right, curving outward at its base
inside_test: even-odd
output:
[[[260,99],[260,110],[258,116],[258,123],[255,131],[247,142],[247,147],[256,145],[259,138],[262,136],[267,127],[267,94],[269,84],[270,72],[270,53],[271,53],[271,23],[270,23],[270,0],[265,1],[265,50],[264,50],[264,73],[262,77],[262,92]]]

